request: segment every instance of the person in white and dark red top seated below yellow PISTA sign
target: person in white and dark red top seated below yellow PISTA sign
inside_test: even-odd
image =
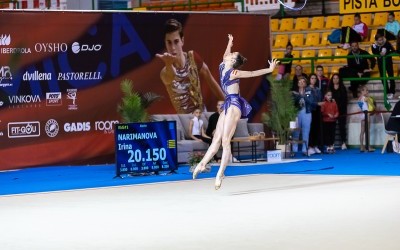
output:
[[[361,21],[359,13],[354,15],[352,27],[342,27],[341,45],[343,49],[349,49],[352,42],[362,42],[368,36],[368,26]]]

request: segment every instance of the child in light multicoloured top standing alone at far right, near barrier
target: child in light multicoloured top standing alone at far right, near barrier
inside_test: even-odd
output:
[[[370,112],[375,110],[374,99],[372,97],[368,96],[367,86],[360,86],[358,89],[358,94],[359,94],[358,106],[360,107],[361,111],[364,112],[364,113],[360,114],[360,119],[361,119],[360,152],[365,152],[366,150],[368,150],[369,152],[373,152],[373,151],[375,151],[375,149],[371,148],[371,146],[369,146],[368,149],[365,148],[364,136],[366,135],[365,119],[367,119],[368,128],[370,128],[370,120],[371,120]],[[368,111],[367,116],[365,116],[365,111]],[[368,133],[368,141],[369,141],[369,135],[370,135],[370,133]],[[367,138],[365,138],[365,139],[367,139]]]

